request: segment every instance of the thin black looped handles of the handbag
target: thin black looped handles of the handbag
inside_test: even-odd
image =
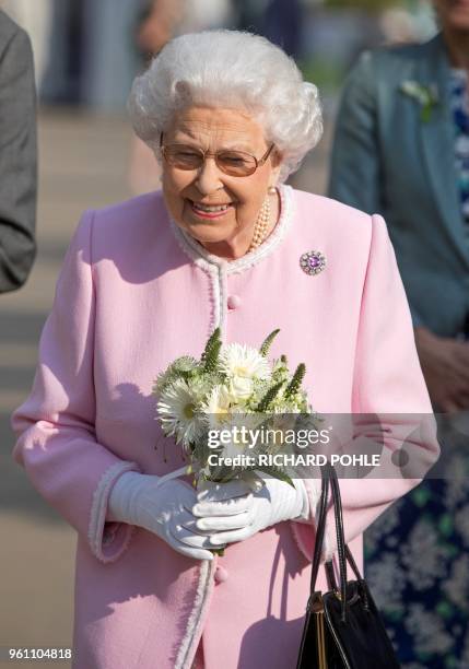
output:
[[[324,545],[324,536],[326,531],[326,518],[327,518],[327,503],[328,503],[328,493],[329,493],[329,482],[332,492],[332,504],[333,504],[333,515],[335,515],[335,524],[336,524],[336,537],[337,537],[337,553],[338,553],[338,562],[339,562],[339,582],[340,582],[340,590],[337,587],[336,575],[333,572],[332,561],[329,560],[325,563],[326,575],[329,583],[329,587],[333,589],[341,601],[341,620],[345,622],[347,620],[347,563],[352,567],[352,572],[354,573],[356,579],[359,582],[363,580],[363,577],[360,574],[359,567],[353,559],[353,555],[345,543],[344,533],[343,533],[343,518],[342,518],[342,503],[340,498],[340,486],[337,478],[337,472],[335,468],[327,463],[321,468],[321,494],[319,500],[319,518],[317,523],[317,531],[316,531],[316,542],[315,550],[313,555],[313,566],[312,566],[312,578],[310,578],[310,592],[313,596],[316,588],[316,580],[319,571],[320,556],[323,552]],[[364,596],[364,606],[368,608],[366,590],[363,592]]]

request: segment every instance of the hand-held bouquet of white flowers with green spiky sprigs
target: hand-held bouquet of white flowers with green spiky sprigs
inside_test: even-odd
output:
[[[293,485],[286,468],[260,463],[259,458],[288,448],[282,437],[285,430],[291,431],[302,415],[310,421],[313,414],[301,387],[305,365],[301,363],[291,374],[284,355],[269,363],[268,352],[278,333],[271,332],[256,350],[222,344],[218,328],[200,360],[183,355],[159,375],[153,388],[157,418],[164,434],[189,456],[186,473],[194,473],[195,485],[243,478],[256,488],[262,484],[258,472]],[[266,443],[259,435],[270,438]]]

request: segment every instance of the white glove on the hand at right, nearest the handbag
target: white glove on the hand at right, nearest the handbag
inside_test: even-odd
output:
[[[192,513],[199,517],[197,528],[211,532],[209,545],[243,541],[282,520],[307,520],[309,502],[302,480],[294,479],[292,488],[269,474],[262,479],[265,485],[257,490],[243,480],[206,483]]]

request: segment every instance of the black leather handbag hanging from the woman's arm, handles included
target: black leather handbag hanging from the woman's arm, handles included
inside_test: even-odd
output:
[[[376,605],[344,541],[337,473],[330,465],[324,467],[321,473],[310,592],[296,669],[399,669]],[[320,592],[315,588],[326,529],[329,485],[336,516],[340,584],[338,587],[332,561],[326,562],[329,591]],[[347,580],[347,563],[355,580]]]

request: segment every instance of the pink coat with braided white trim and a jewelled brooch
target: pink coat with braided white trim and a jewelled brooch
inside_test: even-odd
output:
[[[317,275],[298,262],[312,249],[327,258]],[[280,327],[272,356],[306,363],[319,412],[431,412],[379,216],[283,187],[269,239],[226,262],[169,222],[161,192],[86,212],[44,328],[32,394],[13,416],[16,461],[78,531],[77,669],[189,669],[202,634],[207,669],[295,666],[313,518],[232,544],[213,563],[105,523],[122,472],[161,476],[183,465],[155,421],[152,383],[176,356],[200,355],[216,325],[225,341],[251,345]],[[392,449],[402,425],[388,427]],[[417,445],[435,459],[434,438]],[[414,483],[342,481],[359,562],[362,531]],[[307,485],[313,508],[318,486]]]

